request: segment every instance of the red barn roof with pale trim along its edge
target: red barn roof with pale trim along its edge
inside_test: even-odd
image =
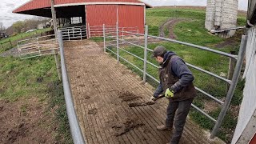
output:
[[[95,5],[95,4],[123,4],[123,5],[145,5],[146,7],[153,7],[145,2],[139,0],[54,0],[54,7],[58,7],[59,10],[63,6],[69,6],[70,10],[64,10],[63,12],[69,12],[76,9],[82,9],[84,5]],[[73,8],[72,8],[73,6]],[[80,8],[78,8],[80,6]],[[42,17],[51,17],[50,13],[50,0],[30,0],[22,6],[19,6],[13,11],[18,14],[30,14]],[[58,12],[57,12],[58,13]],[[57,14],[57,17],[62,17]]]

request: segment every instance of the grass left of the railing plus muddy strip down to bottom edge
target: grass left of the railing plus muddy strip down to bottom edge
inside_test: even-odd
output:
[[[57,127],[57,134],[53,136],[56,141],[72,143],[62,83],[58,80],[54,57],[25,60],[0,57],[0,99],[14,103],[24,99],[30,105],[30,98],[38,98],[42,104],[48,103],[45,114],[53,111],[54,122],[50,126]],[[24,107],[21,109],[26,110]]]

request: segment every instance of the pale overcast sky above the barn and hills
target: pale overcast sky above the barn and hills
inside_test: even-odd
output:
[[[12,23],[26,18],[32,18],[25,14],[13,14],[12,10],[21,6],[29,0],[0,0],[0,22],[4,26],[11,26]],[[206,6],[206,0],[142,0],[152,6]],[[247,10],[248,0],[238,0],[238,10]]]

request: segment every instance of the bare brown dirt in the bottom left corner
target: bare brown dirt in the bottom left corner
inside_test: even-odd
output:
[[[38,98],[0,100],[0,111],[0,143],[55,143],[52,114]]]

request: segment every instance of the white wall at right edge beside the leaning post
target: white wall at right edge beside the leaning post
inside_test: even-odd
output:
[[[256,29],[248,30],[246,46],[246,70],[243,78],[246,78],[243,90],[243,98],[238,115],[238,124],[234,131],[232,144],[248,143],[256,131]],[[254,122],[254,124],[252,124]]]

